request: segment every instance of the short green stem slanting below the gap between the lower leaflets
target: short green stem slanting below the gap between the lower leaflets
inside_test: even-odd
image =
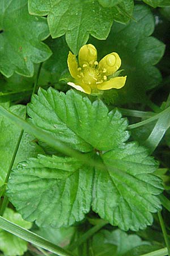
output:
[[[76,247],[80,246],[83,242],[88,240],[90,237],[94,236],[94,234],[99,231],[103,226],[107,225],[107,221],[103,221],[102,223],[95,225],[93,228],[89,229],[86,233],[83,234],[82,237],[78,241],[75,241],[72,243],[72,245],[69,246],[69,250],[73,251]]]

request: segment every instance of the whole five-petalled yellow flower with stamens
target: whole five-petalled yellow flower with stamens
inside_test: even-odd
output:
[[[116,52],[106,55],[98,63],[96,48],[86,44],[80,48],[78,62],[76,56],[69,52],[67,64],[74,82],[67,84],[81,92],[97,94],[101,90],[120,89],[125,85],[126,76],[112,77],[121,66],[121,59]]]

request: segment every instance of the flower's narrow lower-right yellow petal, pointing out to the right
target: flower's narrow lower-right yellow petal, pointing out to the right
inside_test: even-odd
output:
[[[99,90],[109,90],[112,88],[120,89],[125,85],[127,76],[117,76],[110,79],[107,82],[103,82],[102,84],[97,85],[97,89]]]

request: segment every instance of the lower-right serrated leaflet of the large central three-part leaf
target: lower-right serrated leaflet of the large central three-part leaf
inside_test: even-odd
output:
[[[102,159],[107,171],[96,168],[92,209],[123,230],[151,225],[151,213],[161,208],[156,195],[163,189],[158,177],[152,175],[155,160],[137,143],[108,151]]]

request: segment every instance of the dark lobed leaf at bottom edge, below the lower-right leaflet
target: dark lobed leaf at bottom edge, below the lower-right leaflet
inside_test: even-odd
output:
[[[128,235],[120,229],[112,232],[101,230],[92,240],[92,248],[96,256],[121,256],[126,253],[128,255],[128,251],[142,245],[150,245],[150,243],[142,241],[137,235]]]

